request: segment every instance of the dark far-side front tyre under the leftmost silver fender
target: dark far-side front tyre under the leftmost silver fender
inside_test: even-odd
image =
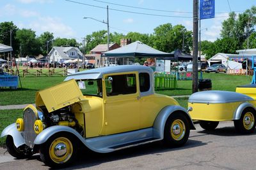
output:
[[[10,155],[17,159],[26,159],[33,155],[31,149],[26,145],[22,145],[19,148],[16,148],[13,143],[13,138],[10,135],[8,135],[6,138],[6,148]]]

